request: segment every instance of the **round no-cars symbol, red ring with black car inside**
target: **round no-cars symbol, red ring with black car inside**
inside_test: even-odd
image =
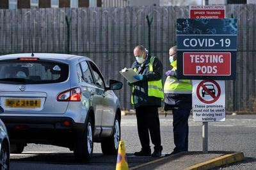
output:
[[[214,80],[202,80],[196,88],[196,96],[202,103],[214,103],[220,98],[220,94],[220,85]]]

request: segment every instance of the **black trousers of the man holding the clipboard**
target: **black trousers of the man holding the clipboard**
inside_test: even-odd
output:
[[[150,149],[148,130],[152,143],[155,145],[154,150],[163,150],[157,106],[139,106],[136,108],[136,117],[142,150]]]

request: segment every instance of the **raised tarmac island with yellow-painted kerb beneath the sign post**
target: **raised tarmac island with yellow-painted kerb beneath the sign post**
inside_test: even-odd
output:
[[[207,153],[202,152],[180,152],[170,156],[151,160],[149,162],[132,166],[132,169],[212,169],[214,167],[225,166],[244,160],[243,152],[225,152],[225,151],[211,151]],[[128,156],[129,159],[132,159]]]

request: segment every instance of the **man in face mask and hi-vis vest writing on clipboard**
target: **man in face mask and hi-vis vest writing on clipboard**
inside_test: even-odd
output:
[[[138,73],[134,78],[139,81],[129,85],[132,86],[131,103],[136,110],[141,143],[141,151],[135,152],[134,155],[161,157],[163,146],[161,146],[158,108],[161,107],[161,101],[164,99],[163,65],[157,57],[150,56],[142,45],[136,46],[133,52],[136,61],[132,64],[132,69]],[[155,145],[152,154],[148,130]]]

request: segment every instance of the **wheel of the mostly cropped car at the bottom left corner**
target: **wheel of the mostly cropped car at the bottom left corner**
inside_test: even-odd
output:
[[[10,153],[8,149],[8,145],[6,143],[1,144],[1,152],[0,152],[0,169],[8,170],[9,169],[9,159]]]

